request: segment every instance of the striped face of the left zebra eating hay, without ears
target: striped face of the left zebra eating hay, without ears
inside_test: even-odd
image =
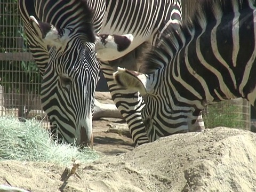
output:
[[[77,138],[78,144],[79,132],[87,127],[86,117],[93,114],[95,87],[99,79],[99,65],[92,65],[97,63],[95,55],[94,58],[91,57],[91,53],[95,52],[94,46],[89,45],[85,47],[74,41],[70,43],[70,47],[73,47],[72,52],[67,50],[68,54],[58,58],[58,62],[50,60],[41,86],[41,101],[45,113],[54,125],[65,127],[58,129],[59,137],[65,138],[67,142],[73,142],[74,138]],[[52,50],[50,58],[52,54],[58,53]],[[78,55],[79,59],[74,55]],[[74,65],[70,66],[70,63]],[[57,130],[52,131],[55,133]]]

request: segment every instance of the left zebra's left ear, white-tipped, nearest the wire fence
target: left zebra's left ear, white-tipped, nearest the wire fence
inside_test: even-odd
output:
[[[58,29],[57,27],[36,20],[34,16],[30,16],[30,22],[35,33],[43,39],[44,43],[49,46],[61,46],[66,43],[68,34],[66,30]]]

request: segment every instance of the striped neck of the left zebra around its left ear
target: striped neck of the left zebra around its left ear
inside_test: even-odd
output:
[[[45,67],[49,61],[49,51],[47,46],[42,42],[42,39],[39,38],[35,34],[33,28],[31,28],[29,16],[34,15],[36,19],[39,19],[42,22],[51,23],[58,28],[71,27],[74,29],[81,29],[84,22],[81,20],[88,17],[88,15],[84,14],[84,12],[86,13],[89,10],[83,9],[87,4],[85,0],[72,0],[68,2],[65,1],[65,3],[63,3],[63,1],[51,0],[19,0],[18,3],[23,26],[27,35],[29,50],[31,51],[33,58],[36,61],[40,73],[43,75]],[[102,26],[102,18],[105,17],[105,1],[97,1],[97,3],[95,1],[90,1],[90,9],[93,9],[96,6],[102,7],[102,9],[99,9],[98,12],[95,12],[92,21],[90,22],[93,23],[94,31],[98,33]]]

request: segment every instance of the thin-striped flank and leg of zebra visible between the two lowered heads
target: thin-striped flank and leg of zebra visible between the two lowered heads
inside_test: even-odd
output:
[[[100,68],[107,80],[111,97],[128,124],[134,147],[136,147],[149,141],[141,118],[144,101],[137,91],[130,92],[116,84],[113,73],[118,66],[140,71],[140,58],[144,50],[147,50],[148,45],[158,46],[161,44],[161,37],[165,29],[169,25],[175,28],[182,22],[182,5],[179,0],[109,1],[107,12],[113,12],[113,14],[107,14],[102,24],[101,33],[133,34],[133,42],[138,42],[140,45],[135,45],[136,49],[116,60],[113,60],[111,58],[113,55],[108,52],[105,54],[97,52],[101,61]],[[133,49],[135,46],[131,48]],[[129,51],[127,49],[127,52]],[[201,111],[194,116],[193,127],[194,130],[204,129]]]

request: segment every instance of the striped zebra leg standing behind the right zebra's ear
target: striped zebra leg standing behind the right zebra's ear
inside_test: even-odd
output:
[[[108,63],[101,62],[101,69],[107,80],[111,97],[117,109],[125,118],[133,139],[134,147],[136,147],[148,142],[146,129],[141,118],[141,109],[144,107],[143,99],[139,96],[138,92],[131,93],[118,86],[113,78],[113,73],[117,70],[117,66],[125,65],[133,70],[137,70],[137,65],[131,66],[131,63],[136,63],[134,55],[135,52],[132,51],[115,61]],[[127,63],[127,61],[129,63]]]

